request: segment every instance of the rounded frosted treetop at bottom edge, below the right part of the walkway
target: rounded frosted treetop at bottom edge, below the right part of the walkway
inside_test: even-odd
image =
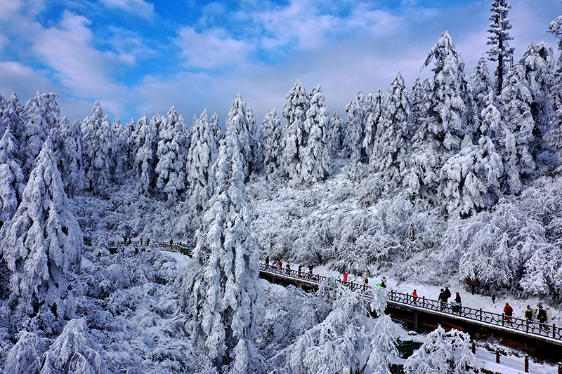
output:
[[[445,332],[441,326],[427,335],[421,348],[406,360],[407,374],[475,374],[480,363],[471,350],[471,339],[454,328]]]

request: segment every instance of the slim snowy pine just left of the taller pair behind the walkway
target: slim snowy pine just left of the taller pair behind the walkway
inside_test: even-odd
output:
[[[277,116],[275,108],[266,113],[259,129],[259,144],[261,149],[261,164],[263,172],[268,175],[279,169],[280,159],[283,153],[281,147],[282,131],[281,120]]]

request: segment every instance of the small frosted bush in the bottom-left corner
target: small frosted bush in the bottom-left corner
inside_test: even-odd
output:
[[[18,342],[10,349],[4,363],[8,374],[39,373],[41,357],[48,349],[50,342],[37,333],[22,331],[18,334]]]

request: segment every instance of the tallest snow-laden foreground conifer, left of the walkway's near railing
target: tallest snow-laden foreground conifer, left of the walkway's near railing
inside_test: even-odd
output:
[[[245,201],[247,135],[236,133],[243,130],[236,116],[227,121],[213,167],[217,189],[182,277],[199,373],[249,373],[259,362],[254,342],[261,312],[259,248]]]

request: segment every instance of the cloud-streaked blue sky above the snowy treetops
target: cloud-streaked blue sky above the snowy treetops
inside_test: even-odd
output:
[[[61,115],[84,119],[99,100],[113,121],[165,114],[191,123],[207,107],[223,123],[238,92],[261,123],[297,79],[320,84],[329,112],[357,91],[408,85],[448,30],[470,73],[487,51],[490,1],[0,0],[0,94],[55,92]],[[513,0],[516,59],[556,40],[559,0]],[[558,55],[558,51],[556,51]]]

